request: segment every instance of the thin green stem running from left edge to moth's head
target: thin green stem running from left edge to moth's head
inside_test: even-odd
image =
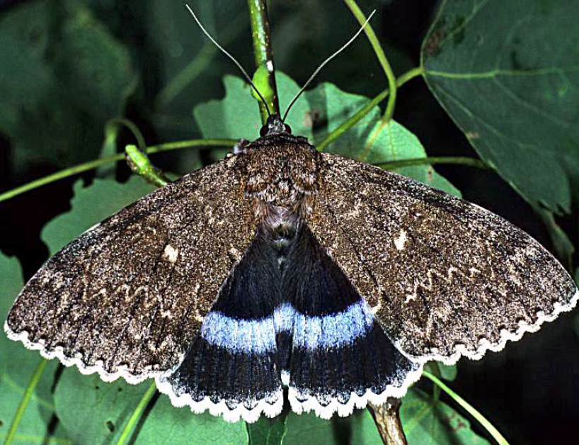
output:
[[[233,147],[236,145],[237,140],[234,139],[196,139],[196,140],[182,140],[178,142],[167,142],[166,144],[151,145],[147,147],[146,152],[148,154],[157,152],[166,152],[169,150],[180,150],[182,148],[190,147]],[[78,164],[74,167],[69,167],[68,169],[57,171],[56,173],[50,174],[35,181],[31,181],[23,186],[13,188],[4,193],[0,194],[0,201],[6,201],[6,199],[18,196],[26,191],[33,190],[40,186],[45,186],[51,182],[59,181],[59,179],[68,178],[69,176],[74,176],[75,174],[82,173],[83,171],[88,171],[101,167],[101,165],[110,164],[111,162],[122,161],[125,159],[124,153],[114,154],[113,156],[101,157],[100,159],[95,159],[94,161],[85,162],[84,164]]]

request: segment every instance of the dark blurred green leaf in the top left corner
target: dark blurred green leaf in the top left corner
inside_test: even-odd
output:
[[[130,55],[79,1],[28,2],[0,21],[0,131],[13,167],[96,157],[136,86]]]

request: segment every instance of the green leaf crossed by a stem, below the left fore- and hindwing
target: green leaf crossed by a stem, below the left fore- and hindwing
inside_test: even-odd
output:
[[[76,368],[62,373],[55,392],[59,418],[76,444],[115,444],[151,381],[105,383]],[[131,441],[133,440],[134,441]],[[154,396],[127,443],[134,445],[245,444],[243,422],[228,423],[209,413],[176,408],[166,395]]]

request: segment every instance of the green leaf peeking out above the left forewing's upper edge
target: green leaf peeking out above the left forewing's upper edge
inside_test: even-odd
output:
[[[155,189],[139,176],[131,176],[126,184],[95,179],[91,186],[84,187],[82,181],[76,181],[72,210],[52,219],[40,237],[48,245],[50,254],[55,254],[82,232]]]

